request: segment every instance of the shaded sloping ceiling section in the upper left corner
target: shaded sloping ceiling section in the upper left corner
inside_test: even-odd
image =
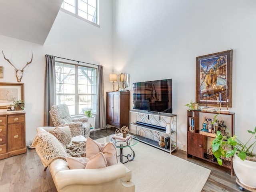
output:
[[[1,0],[0,35],[43,45],[63,0]]]

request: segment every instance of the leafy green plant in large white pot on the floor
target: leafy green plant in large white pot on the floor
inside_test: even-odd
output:
[[[246,143],[240,141],[236,135],[223,136],[217,131],[216,138],[212,141],[212,152],[222,165],[222,159],[233,157],[233,168],[238,180],[236,182],[251,191],[256,191],[256,127]],[[254,139],[254,140],[252,140]],[[241,185],[242,184],[242,185]]]

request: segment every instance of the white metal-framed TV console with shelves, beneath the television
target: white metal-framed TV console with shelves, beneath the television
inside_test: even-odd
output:
[[[141,122],[145,125],[138,124]],[[166,127],[166,124],[170,123],[171,132],[166,133],[165,130],[154,128],[157,126]],[[149,124],[149,126],[146,126]],[[153,126],[151,126],[153,125]],[[177,115],[160,113],[160,112],[147,112],[143,110],[130,110],[130,131],[135,128],[135,136],[139,141],[154,146],[158,149],[166,152],[173,152],[177,150]],[[159,146],[158,141],[161,136],[170,137],[170,147],[162,148]]]

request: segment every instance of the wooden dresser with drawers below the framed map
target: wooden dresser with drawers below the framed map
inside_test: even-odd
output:
[[[0,113],[0,159],[26,153],[25,112]]]

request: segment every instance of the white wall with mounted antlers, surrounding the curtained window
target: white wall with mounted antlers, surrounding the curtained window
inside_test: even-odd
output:
[[[44,46],[0,36],[0,50],[4,50],[6,58],[18,69],[30,61],[33,51],[33,61],[25,68],[21,82],[25,90],[27,143],[34,139],[36,128],[43,126],[45,54],[103,65],[104,91],[112,90],[108,81],[113,65],[112,0],[99,2],[100,28],[60,11]],[[0,82],[17,82],[14,68],[3,56],[0,56],[0,66],[4,67],[4,78]]]

